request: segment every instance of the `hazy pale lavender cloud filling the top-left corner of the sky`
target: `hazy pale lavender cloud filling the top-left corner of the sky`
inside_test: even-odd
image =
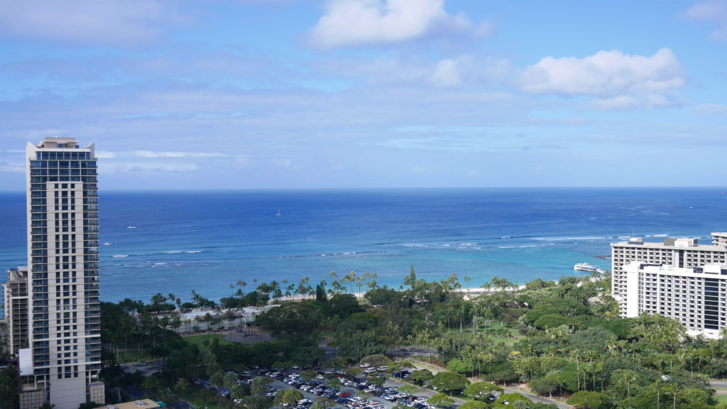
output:
[[[155,39],[163,20],[180,20],[162,0],[3,1],[0,31],[84,44],[137,44]]]

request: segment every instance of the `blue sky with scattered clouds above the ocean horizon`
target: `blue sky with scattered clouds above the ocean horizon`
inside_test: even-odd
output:
[[[723,186],[727,0],[0,0],[0,190]]]

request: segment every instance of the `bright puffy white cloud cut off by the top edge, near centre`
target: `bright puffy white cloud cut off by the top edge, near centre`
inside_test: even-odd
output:
[[[332,49],[361,44],[393,44],[427,33],[486,36],[489,23],[475,25],[466,15],[449,15],[444,0],[331,0],[310,31],[314,47]]]

